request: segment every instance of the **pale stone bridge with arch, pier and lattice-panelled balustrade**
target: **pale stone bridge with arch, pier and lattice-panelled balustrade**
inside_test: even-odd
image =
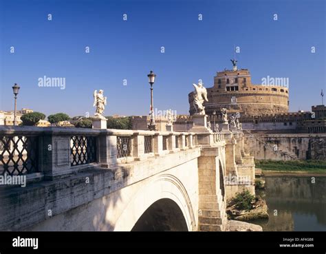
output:
[[[239,129],[0,127],[0,230],[228,231],[226,200],[254,193],[243,148]]]

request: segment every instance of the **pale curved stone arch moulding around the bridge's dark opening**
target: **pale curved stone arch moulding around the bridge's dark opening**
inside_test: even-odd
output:
[[[166,202],[170,207],[177,206],[184,218],[186,230],[197,229],[193,205],[186,188],[175,176],[162,174],[150,180],[130,198],[116,221],[114,231],[131,231],[142,215],[148,213],[153,206],[157,207],[158,202]]]

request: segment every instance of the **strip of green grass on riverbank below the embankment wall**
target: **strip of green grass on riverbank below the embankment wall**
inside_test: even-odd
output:
[[[266,171],[326,173],[325,160],[256,160],[255,164]]]

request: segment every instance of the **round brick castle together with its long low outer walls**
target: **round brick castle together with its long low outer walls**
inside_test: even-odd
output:
[[[215,122],[221,123],[220,110],[224,107],[229,115],[239,112],[243,129],[297,134],[326,132],[325,105],[312,106],[311,112],[288,112],[288,81],[274,82],[274,85],[263,81],[261,85],[254,85],[249,70],[238,70],[236,62],[232,60],[232,70],[217,72],[213,87],[206,88],[208,102],[204,106],[212,126]],[[190,115],[175,116],[173,130],[188,131],[191,128],[192,115],[195,114],[193,95],[194,92],[188,94]],[[155,121],[158,130],[166,130],[166,116],[155,115]],[[132,124],[133,129],[147,129],[149,116],[133,116]]]

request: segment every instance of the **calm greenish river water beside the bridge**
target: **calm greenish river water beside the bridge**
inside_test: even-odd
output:
[[[268,176],[257,191],[268,204],[263,231],[326,231],[326,177]]]

